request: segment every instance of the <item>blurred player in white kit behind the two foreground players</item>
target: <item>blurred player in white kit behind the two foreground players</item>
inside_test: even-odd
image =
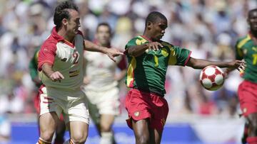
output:
[[[95,43],[111,48],[111,27],[99,23],[96,28]],[[101,136],[101,144],[115,143],[112,125],[120,113],[119,81],[126,74],[124,55],[116,57],[116,62],[99,52],[85,52],[84,92],[88,100],[89,114]],[[119,68],[120,72],[117,72]]]

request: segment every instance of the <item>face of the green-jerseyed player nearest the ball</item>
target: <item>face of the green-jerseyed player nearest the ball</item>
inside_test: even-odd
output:
[[[153,27],[152,27],[152,40],[153,41],[158,41],[161,40],[161,38],[163,37],[164,33],[165,33],[165,29],[167,28],[167,21],[163,20],[163,19],[159,19],[158,22],[153,23]]]

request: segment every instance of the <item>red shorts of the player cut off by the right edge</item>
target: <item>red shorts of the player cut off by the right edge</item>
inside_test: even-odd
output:
[[[238,97],[243,116],[257,112],[257,84],[244,80],[238,87]]]

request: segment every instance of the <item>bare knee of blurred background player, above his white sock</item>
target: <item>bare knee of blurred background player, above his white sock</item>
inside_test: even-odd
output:
[[[114,123],[114,118],[115,116],[111,114],[101,114],[101,131],[111,131],[111,126]]]

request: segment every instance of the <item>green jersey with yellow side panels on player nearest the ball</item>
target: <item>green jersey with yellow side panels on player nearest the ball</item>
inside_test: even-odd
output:
[[[126,49],[134,45],[142,45],[151,41],[143,36],[137,36],[126,44]],[[129,67],[126,74],[126,85],[130,88],[153,92],[164,96],[164,84],[168,65],[185,66],[191,51],[160,42],[160,50],[146,50],[142,55],[133,57],[127,55]]]

